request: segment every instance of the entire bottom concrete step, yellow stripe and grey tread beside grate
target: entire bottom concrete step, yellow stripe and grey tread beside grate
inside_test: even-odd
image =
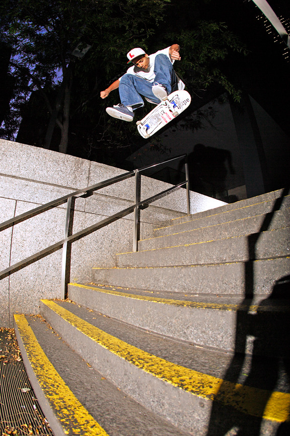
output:
[[[38,401],[55,436],[189,434],[121,392],[40,316],[16,315],[15,328]]]

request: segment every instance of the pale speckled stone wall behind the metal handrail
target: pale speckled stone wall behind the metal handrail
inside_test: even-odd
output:
[[[0,139],[0,222],[125,171],[86,159]],[[141,198],[170,185],[142,176]],[[74,233],[133,203],[133,178],[76,201]],[[224,203],[191,193],[191,212]],[[141,212],[141,239],[186,212],[184,189]],[[66,204],[0,232],[0,270],[63,238]],[[132,251],[132,214],[73,244],[71,281],[90,283],[92,266],[113,266],[114,254]],[[39,299],[60,298],[61,250],[0,281],[0,326],[13,314],[38,313]]]

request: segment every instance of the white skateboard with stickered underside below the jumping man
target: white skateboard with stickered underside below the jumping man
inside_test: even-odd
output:
[[[174,120],[190,104],[191,97],[187,91],[180,90],[164,97],[154,109],[142,120],[137,121],[137,129],[143,138],[149,138],[170,121]]]

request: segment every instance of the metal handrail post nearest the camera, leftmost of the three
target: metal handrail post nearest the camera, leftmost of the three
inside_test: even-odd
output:
[[[73,233],[74,212],[75,212],[76,197],[69,197],[67,199],[65,229],[64,229],[64,243],[62,246],[62,263],[61,263],[61,299],[67,297],[67,285],[70,281],[70,258],[71,258],[71,242],[67,242],[67,238]]]

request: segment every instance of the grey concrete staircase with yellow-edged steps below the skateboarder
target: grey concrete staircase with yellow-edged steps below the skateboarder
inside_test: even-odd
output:
[[[55,434],[290,434],[289,218],[286,190],[183,216],[15,315]]]

